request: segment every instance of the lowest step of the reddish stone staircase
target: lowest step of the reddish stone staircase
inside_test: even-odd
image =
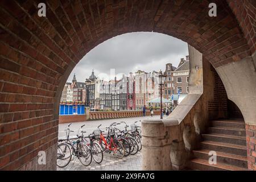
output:
[[[247,171],[246,168],[232,166],[224,163],[209,164],[208,160],[204,159],[192,159],[189,162],[189,167],[193,170],[201,171]]]

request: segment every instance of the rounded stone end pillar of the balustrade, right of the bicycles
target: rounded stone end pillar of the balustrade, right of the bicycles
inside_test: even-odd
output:
[[[179,122],[176,119],[142,121],[142,170],[172,169],[171,143],[177,139],[178,133]]]

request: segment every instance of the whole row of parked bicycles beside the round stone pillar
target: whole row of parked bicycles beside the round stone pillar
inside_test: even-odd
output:
[[[86,136],[86,131],[82,130],[82,125],[77,131],[75,138],[70,137],[74,131],[70,129],[72,123],[67,126],[65,139],[60,139],[57,146],[57,166],[65,167],[71,160],[78,158],[84,166],[89,166],[94,162],[100,164],[104,158],[104,152],[113,154],[116,158],[135,155],[142,149],[141,144],[141,126],[136,121],[130,125],[131,130],[127,130],[129,125],[126,122],[114,122],[106,127],[107,133],[101,130],[101,125]],[[117,126],[124,124],[124,129],[118,129]]]

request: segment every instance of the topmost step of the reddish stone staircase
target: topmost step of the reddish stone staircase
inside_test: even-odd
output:
[[[212,127],[229,127],[233,129],[245,129],[245,122],[236,120],[214,120],[211,121]]]

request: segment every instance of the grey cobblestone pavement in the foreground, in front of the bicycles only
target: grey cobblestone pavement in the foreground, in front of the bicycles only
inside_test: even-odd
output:
[[[79,159],[75,158],[68,166],[64,168],[57,167],[58,171],[140,171],[141,170],[141,152],[135,155],[129,155],[122,159],[115,158],[112,154],[104,152],[104,158],[101,164],[97,164],[92,159],[89,166],[83,166]]]

